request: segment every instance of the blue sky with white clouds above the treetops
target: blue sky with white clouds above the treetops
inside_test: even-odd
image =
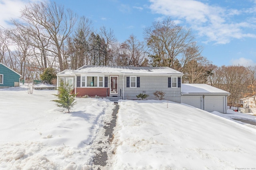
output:
[[[40,0],[0,0],[0,25],[16,18],[28,2]],[[188,27],[202,55],[213,64],[256,65],[256,0],[55,0],[79,16],[92,20],[94,29],[114,30],[122,43],[129,35],[143,41],[145,27],[170,17]]]

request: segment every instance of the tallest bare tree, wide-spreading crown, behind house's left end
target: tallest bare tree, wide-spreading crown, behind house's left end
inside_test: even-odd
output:
[[[72,33],[76,23],[76,14],[71,10],[64,10],[64,7],[55,2],[41,2],[29,4],[22,10],[22,16],[38,24],[45,34],[45,39],[52,45],[48,51],[54,53],[58,58],[60,71],[67,68],[64,63],[63,46],[67,37]],[[42,33],[41,32],[41,33]]]

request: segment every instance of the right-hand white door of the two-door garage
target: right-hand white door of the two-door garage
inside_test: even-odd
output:
[[[218,111],[223,113],[224,110],[224,97],[223,96],[205,96],[204,109],[206,111]]]

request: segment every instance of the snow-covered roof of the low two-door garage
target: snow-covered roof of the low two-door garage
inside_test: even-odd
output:
[[[192,93],[192,94],[230,94],[224,90],[219,88],[210,86],[208,84],[181,84],[181,92],[182,93]]]

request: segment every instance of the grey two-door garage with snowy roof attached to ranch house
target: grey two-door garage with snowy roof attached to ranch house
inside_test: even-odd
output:
[[[205,111],[226,113],[229,92],[207,84],[182,84],[182,103]]]

